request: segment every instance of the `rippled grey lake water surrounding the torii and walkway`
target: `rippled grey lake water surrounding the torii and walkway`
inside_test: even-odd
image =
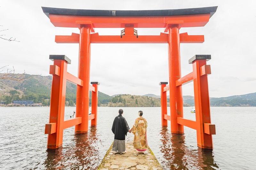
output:
[[[161,126],[160,107],[123,107],[130,128],[142,110],[148,121],[148,145],[163,168],[168,169],[256,169],[256,107],[211,107],[213,150],[197,147],[196,130],[184,127],[184,134],[170,133]],[[170,108],[168,108],[170,109]],[[194,119],[191,107],[184,118]],[[63,145],[47,151],[45,123],[49,107],[0,107],[0,169],[97,169],[114,140],[111,131],[119,108],[99,107],[98,125],[88,133],[64,130]],[[65,108],[65,119],[76,110]],[[170,114],[170,110],[168,110]],[[169,115],[168,114],[168,115]],[[133,134],[126,140],[131,142]]]

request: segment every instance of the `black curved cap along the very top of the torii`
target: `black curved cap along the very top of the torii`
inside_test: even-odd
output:
[[[45,15],[75,15],[75,16],[177,16],[177,15],[196,15],[210,13],[210,18],[216,12],[218,6],[203,8],[187,8],[174,10],[138,10],[138,11],[121,11],[121,10],[82,10],[66,8],[42,7]]]

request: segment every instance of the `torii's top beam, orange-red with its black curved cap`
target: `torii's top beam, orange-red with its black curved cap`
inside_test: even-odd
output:
[[[132,24],[134,28],[166,28],[169,23],[179,24],[179,27],[204,26],[217,10],[217,6],[143,11],[78,10],[49,7],[42,7],[42,9],[52,24],[58,27],[79,28],[82,22],[90,21],[93,28],[124,28],[127,24]]]

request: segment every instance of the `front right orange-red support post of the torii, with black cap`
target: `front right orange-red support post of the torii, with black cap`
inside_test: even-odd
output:
[[[207,68],[206,61],[210,59],[211,55],[195,55],[189,60],[189,63],[193,63],[193,72],[195,73],[194,94],[197,146],[212,149],[212,134],[215,134],[215,125],[211,124],[210,114],[210,98],[207,78],[207,72],[210,72],[206,71],[205,73],[205,68]]]

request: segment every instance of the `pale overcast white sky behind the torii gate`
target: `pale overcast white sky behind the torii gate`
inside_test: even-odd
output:
[[[57,44],[55,35],[79,33],[78,28],[54,27],[41,6],[94,10],[163,10],[218,6],[204,27],[181,28],[180,33],[204,35],[204,43],[181,44],[181,74],[192,71],[188,60],[210,54],[210,97],[256,92],[256,1],[244,0],[1,0],[0,67],[16,73],[49,75],[49,55],[71,59],[68,72],[77,76],[78,44]],[[120,35],[118,29],[95,29],[100,35]],[[159,35],[163,28],[138,29],[139,35]],[[92,44],[91,81],[108,95],[153,93],[160,95],[159,82],[168,82],[167,44]],[[8,68],[5,67],[5,68]],[[193,83],[183,86],[183,95],[194,96]]]

